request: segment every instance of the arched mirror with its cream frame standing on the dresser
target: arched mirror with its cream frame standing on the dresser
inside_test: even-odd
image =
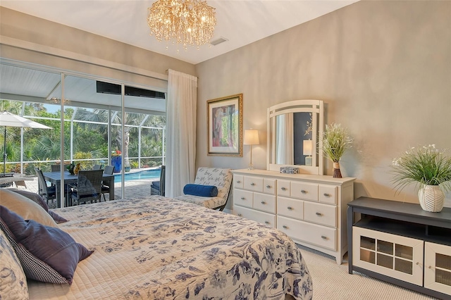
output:
[[[268,170],[294,167],[323,175],[323,101],[295,100],[268,108]]]

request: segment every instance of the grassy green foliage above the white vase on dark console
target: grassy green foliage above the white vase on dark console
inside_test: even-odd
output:
[[[451,191],[451,156],[448,149],[436,149],[435,144],[412,147],[400,158],[393,159],[391,166],[397,192],[410,184],[415,184],[417,189],[423,185],[440,185],[443,192]]]

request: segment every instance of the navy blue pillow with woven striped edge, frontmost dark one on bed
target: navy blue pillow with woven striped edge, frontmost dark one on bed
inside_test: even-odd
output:
[[[4,206],[0,206],[0,227],[32,280],[70,285],[78,263],[94,252],[63,230],[23,220]]]

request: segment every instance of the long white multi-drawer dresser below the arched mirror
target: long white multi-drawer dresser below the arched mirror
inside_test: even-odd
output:
[[[335,256],[347,252],[346,210],[353,177],[233,170],[233,213],[285,232],[297,244]]]

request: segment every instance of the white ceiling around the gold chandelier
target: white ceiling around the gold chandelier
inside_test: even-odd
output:
[[[0,5],[196,64],[357,1],[208,0],[216,8],[217,20],[211,40],[228,41],[199,50],[184,51],[180,46],[179,53],[176,44],[166,49],[166,42],[149,36],[147,8],[154,0],[0,0]]]

